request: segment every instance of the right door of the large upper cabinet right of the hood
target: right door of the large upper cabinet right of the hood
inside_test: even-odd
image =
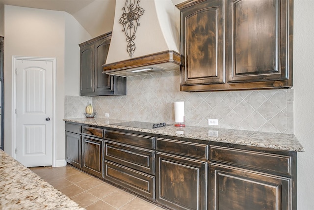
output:
[[[279,80],[274,86],[287,86],[290,1],[226,2],[228,83]]]

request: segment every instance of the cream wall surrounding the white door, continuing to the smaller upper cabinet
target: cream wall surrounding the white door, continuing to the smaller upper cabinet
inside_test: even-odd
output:
[[[88,33],[81,29],[68,13],[5,5],[4,42],[4,148],[11,153],[11,81],[12,56],[56,58],[55,140],[56,160],[65,159],[64,143],[64,95],[71,87],[79,90],[78,44]],[[69,30],[65,30],[65,27]],[[83,31],[83,37],[78,35]],[[71,40],[74,36],[74,40]],[[67,42],[67,44],[65,44]],[[67,59],[67,60],[65,60]],[[65,77],[65,67],[74,74],[75,80]],[[65,83],[65,78],[69,79]],[[72,77],[73,78],[73,77]],[[66,84],[66,85],[65,85]],[[73,89],[72,89],[73,88]],[[77,93],[76,93],[77,94]]]

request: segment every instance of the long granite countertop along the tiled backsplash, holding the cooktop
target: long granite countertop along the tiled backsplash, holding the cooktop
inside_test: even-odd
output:
[[[268,133],[198,126],[175,127],[174,125],[154,129],[141,129],[112,125],[113,123],[125,122],[124,120],[102,118],[64,119],[64,121],[103,126],[108,128],[133,130],[173,137],[192,138],[204,141],[223,142],[237,145],[269,148],[275,150],[288,150],[300,152],[304,151],[304,148],[293,134]]]

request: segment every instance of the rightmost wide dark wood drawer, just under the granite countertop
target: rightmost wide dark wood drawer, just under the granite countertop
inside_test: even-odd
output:
[[[210,161],[291,175],[291,157],[285,155],[210,146],[209,156]]]

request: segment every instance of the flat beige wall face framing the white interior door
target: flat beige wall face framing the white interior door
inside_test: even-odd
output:
[[[56,159],[64,159],[64,12],[5,5],[4,149],[11,153],[12,56],[56,58]],[[64,140],[63,140],[64,142]]]

